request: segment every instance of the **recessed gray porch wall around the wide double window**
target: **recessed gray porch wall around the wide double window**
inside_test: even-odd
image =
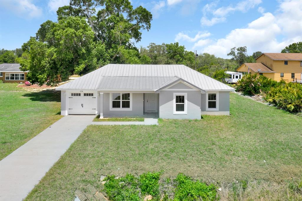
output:
[[[125,115],[125,116],[136,116],[143,115],[143,93],[132,94],[132,110],[131,111],[110,111],[110,93],[104,93],[103,97],[103,115]]]

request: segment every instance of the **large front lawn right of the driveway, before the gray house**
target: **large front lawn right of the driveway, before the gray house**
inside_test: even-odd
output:
[[[215,183],[224,200],[302,199],[302,118],[233,93],[230,108],[159,126],[88,126],[26,200],[72,200],[101,190],[102,174],[161,170]]]

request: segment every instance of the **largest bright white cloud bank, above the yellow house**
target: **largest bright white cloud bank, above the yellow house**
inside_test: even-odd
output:
[[[302,40],[301,19],[301,1],[281,2],[277,14],[264,13],[262,17],[247,24],[246,28],[230,31],[226,37],[200,49],[200,52],[223,58],[227,57],[231,48],[239,46],[247,46],[249,55],[255,51],[280,52],[285,46]],[[277,38],[281,37],[278,41]]]

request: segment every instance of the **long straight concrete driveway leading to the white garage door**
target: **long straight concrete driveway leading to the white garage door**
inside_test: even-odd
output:
[[[94,117],[64,116],[0,161],[0,200],[24,199]]]

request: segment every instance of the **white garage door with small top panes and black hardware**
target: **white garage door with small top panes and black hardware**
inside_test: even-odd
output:
[[[69,93],[69,114],[95,114],[96,93]]]

